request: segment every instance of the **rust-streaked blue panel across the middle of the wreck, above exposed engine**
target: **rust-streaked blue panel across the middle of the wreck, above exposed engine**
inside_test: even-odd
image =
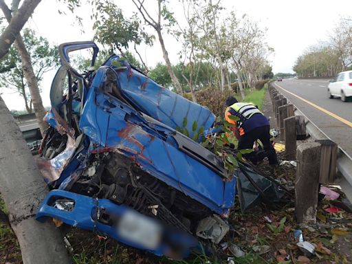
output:
[[[104,74],[104,70],[98,71],[93,87]],[[98,87],[89,90],[80,117],[81,131],[95,143],[132,157],[143,170],[214,212],[228,212],[234,203],[235,177],[224,181],[214,170],[180,151],[173,129],[164,126],[164,131],[157,131],[147,124],[134,109],[102,94]]]

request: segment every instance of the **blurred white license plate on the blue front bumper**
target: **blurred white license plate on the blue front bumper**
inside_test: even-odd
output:
[[[162,226],[151,218],[129,211],[118,223],[118,234],[129,242],[155,250],[162,237]]]

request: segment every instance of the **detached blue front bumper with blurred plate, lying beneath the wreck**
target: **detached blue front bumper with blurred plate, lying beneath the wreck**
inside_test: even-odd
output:
[[[54,207],[57,201],[63,200],[74,206],[70,210],[65,210],[62,206]],[[110,236],[126,245],[157,256],[184,259],[192,250],[201,249],[201,244],[191,234],[166,227],[128,206],[119,206],[107,199],[94,199],[65,190],[50,191],[41,203],[36,219],[45,221],[48,217],[61,220],[67,225]],[[131,223],[131,219],[135,219],[133,225],[128,224]],[[144,239],[141,239],[141,236]]]

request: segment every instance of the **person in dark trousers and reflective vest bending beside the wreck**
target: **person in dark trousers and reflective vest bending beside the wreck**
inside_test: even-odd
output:
[[[253,148],[256,140],[261,140],[264,147],[264,155],[272,165],[278,164],[278,158],[272,143],[270,142],[270,124],[265,115],[258,107],[249,102],[238,102],[230,96],[226,99],[225,120],[234,124],[234,135],[239,140],[238,149]],[[232,118],[230,118],[232,116]],[[250,159],[256,164],[263,157],[258,157],[254,152],[244,154],[243,157]]]

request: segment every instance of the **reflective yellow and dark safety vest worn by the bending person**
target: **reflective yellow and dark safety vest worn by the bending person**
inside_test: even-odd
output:
[[[261,113],[263,115],[254,104],[249,102],[235,102],[226,109],[225,120],[231,124],[235,124],[240,129],[241,134],[241,125],[255,113]],[[230,116],[234,118],[230,119]]]

